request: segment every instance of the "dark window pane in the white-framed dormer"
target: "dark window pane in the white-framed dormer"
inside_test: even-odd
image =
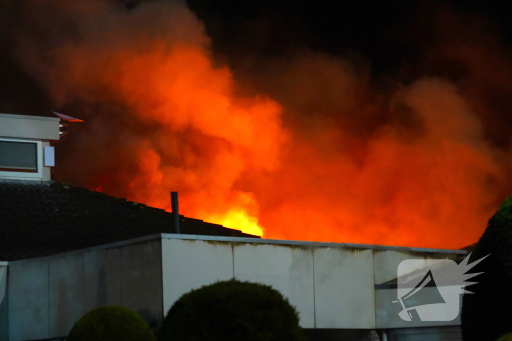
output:
[[[0,168],[13,172],[37,172],[37,144],[0,141]]]

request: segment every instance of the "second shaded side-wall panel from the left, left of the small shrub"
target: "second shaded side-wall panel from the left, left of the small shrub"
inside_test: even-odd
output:
[[[50,260],[50,337],[67,336],[83,309],[83,255]]]

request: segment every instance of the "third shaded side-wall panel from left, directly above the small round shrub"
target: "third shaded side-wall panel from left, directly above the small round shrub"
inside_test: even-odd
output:
[[[84,311],[121,305],[121,248],[83,255]]]

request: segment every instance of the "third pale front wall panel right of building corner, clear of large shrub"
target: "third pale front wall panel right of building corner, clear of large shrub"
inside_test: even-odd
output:
[[[375,328],[373,253],[315,248],[316,328]]]

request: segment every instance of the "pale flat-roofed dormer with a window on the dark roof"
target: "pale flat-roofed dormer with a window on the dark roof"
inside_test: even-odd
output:
[[[0,113],[0,179],[51,179],[60,119]]]

